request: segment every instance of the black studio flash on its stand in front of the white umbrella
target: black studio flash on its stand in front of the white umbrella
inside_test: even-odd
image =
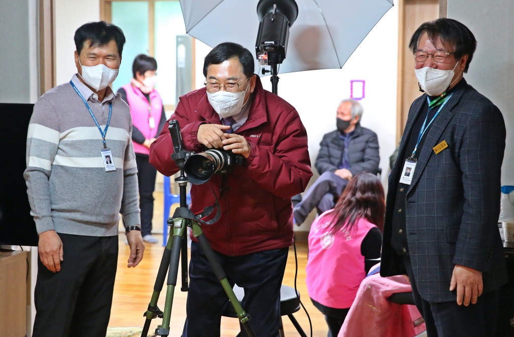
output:
[[[260,0],[257,15],[260,23],[255,54],[261,66],[271,66],[270,70],[262,69],[262,73],[271,72],[272,92],[277,94],[277,65],[286,58],[289,27],[298,16],[298,5],[295,0]]]

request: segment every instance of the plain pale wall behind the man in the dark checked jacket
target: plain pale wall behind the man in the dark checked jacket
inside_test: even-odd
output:
[[[514,2],[448,0],[448,16],[475,35],[466,81],[500,108],[507,127],[502,185],[514,185]]]

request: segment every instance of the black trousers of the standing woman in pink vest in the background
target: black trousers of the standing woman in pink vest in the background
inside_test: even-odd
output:
[[[136,153],[142,236],[152,234],[152,218],[154,216],[154,190],[157,170],[149,163],[148,159],[148,155]]]

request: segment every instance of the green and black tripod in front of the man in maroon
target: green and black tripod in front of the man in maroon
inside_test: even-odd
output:
[[[150,303],[148,305],[148,309],[143,314],[146,317],[144,322],[143,331],[141,332],[141,337],[146,337],[148,334],[148,330],[150,328],[150,323],[156,317],[162,318],[162,324],[159,325],[155,329],[155,335],[160,336],[168,336],[170,334],[170,319],[171,319],[171,308],[173,306],[173,295],[175,291],[175,286],[177,285],[177,274],[178,274],[178,261],[180,258],[180,254],[182,254],[182,291],[187,291],[188,289],[188,266],[187,266],[187,228],[190,227],[193,236],[198,239],[198,243],[206,255],[209,264],[211,265],[214,274],[219,279],[223,289],[227,293],[228,298],[230,299],[230,303],[234,307],[234,310],[237,314],[237,318],[239,319],[241,325],[245,329],[246,333],[250,337],[255,337],[255,334],[249,324],[250,315],[246,313],[241,304],[237,300],[236,295],[232,287],[230,286],[228,279],[226,277],[225,272],[223,271],[222,266],[219,264],[214,251],[207,238],[205,237],[203,231],[201,230],[200,223],[211,224],[217,221],[219,218],[219,207],[217,208],[217,214],[214,219],[205,222],[198,218],[195,214],[193,214],[187,208],[186,202],[186,188],[188,184],[188,179],[184,174],[184,163],[186,159],[189,157],[190,153],[183,149],[182,138],[180,135],[180,126],[178,121],[171,120],[169,126],[171,138],[173,141],[174,153],[171,155],[171,158],[175,161],[177,166],[180,168],[180,176],[175,178],[175,181],[178,182],[179,186],[179,198],[180,198],[180,207],[175,210],[175,213],[172,217],[168,218],[168,226],[171,226],[173,230],[170,230],[170,236],[172,238],[168,239],[166,248],[164,248],[164,252],[162,254],[161,263],[159,266],[159,270],[157,272],[157,278],[154,284],[154,291],[152,292],[152,298],[150,299]],[[209,210],[212,212],[212,209]],[[207,210],[206,210],[207,212]],[[208,214],[207,214],[208,215]],[[212,221],[212,222],[211,222]],[[159,294],[164,285],[164,278],[166,278],[166,274],[168,272],[168,281],[167,281],[167,291],[166,291],[166,302],[164,303],[164,311],[161,311],[157,307],[157,301],[159,299]]]

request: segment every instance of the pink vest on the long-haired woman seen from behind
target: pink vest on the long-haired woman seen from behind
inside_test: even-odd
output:
[[[310,226],[305,281],[310,298],[327,307],[344,309],[352,306],[366,276],[360,246],[375,225],[361,218],[351,232],[331,235],[332,212],[321,214]]]

